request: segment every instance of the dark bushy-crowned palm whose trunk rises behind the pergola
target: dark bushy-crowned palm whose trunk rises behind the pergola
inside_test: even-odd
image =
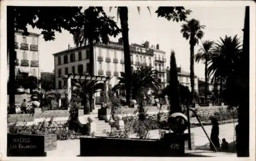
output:
[[[89,7],[80,16],[84,19],[84,23],[74,31],[73,39],[76,46],[84,45],[84,48],[86,48],[86,44],[88,44],[90,55],[89,74],[94,75],[94,44],[99,42],[107,44],[109,36],[116,37],[120,30],[116,22],[112,20],[113,17],[106,16],[102,7]],[[93,110],[92,98],[93,94],[91,93],[89,94],[91,112]]]

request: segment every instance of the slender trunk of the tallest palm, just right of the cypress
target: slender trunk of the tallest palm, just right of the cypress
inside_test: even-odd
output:
[[[193,108],[195,107],[195,73],[194,73],[194,46],[195,44],[190,44],[190,83],[191,83],[191,101]]]

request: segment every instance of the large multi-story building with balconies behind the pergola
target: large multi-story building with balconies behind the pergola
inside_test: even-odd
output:
[[[110,85],[113,87],[118,84],[118,76],[120,72],[124,72],[124,55],[123,55],[123,44],[120,38],[118,42],[109,42],[106,44],[95,44],[94,45],[94,75],[105,75],[110,76]],[[143,45],[132,44],[130,45],[131,52],[131,64],[132,68],[135,69],[138,66],[154,66],[154,53],[161,53],[161,58],[165,59],[165,52],[157,48],[150,47],[150,43],[146,41]],[[59,77],[59,74],[68,73],[88,73],[89,71],[89,48],[74,47],[67,50],[63,50],[53,54],[54,56],[54,71],[55,71],[55,87],[63,88],[65,80]],[[161,66],[164,69],[165,66]],[[157,69],[159,69],[157,67]],[[162,80],[166,79],[164,71],[161,72],[160,77]],[[163,81],[164,82],[164,81]],[[165,85],[163,84],[162,87]]]

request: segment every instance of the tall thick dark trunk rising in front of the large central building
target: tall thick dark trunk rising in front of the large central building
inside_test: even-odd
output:
[[[126,90],[126,103],[130,105],[131,99],[131,57],[130,57],[130,45],[129,45],[129,28],[128,28],[128,8],[120,7],[120,23],[122,29],[123,39],[123,53],[124,53],[124,71],[126,75],[125,90]]]

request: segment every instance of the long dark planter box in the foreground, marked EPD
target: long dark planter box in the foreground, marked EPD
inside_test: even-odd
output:
[[[168,137],[167,137],[168,138]],[[158,139],[120,139],[110,137],[80,137],[80,156],[183,156],[183,149]],[[175,139],[177,142],[177,138]],[[176,143],[175,142],[175,143]],[[174,142],[173,142],[174,143]],[[88,145],[100,146],[88,146]]]

